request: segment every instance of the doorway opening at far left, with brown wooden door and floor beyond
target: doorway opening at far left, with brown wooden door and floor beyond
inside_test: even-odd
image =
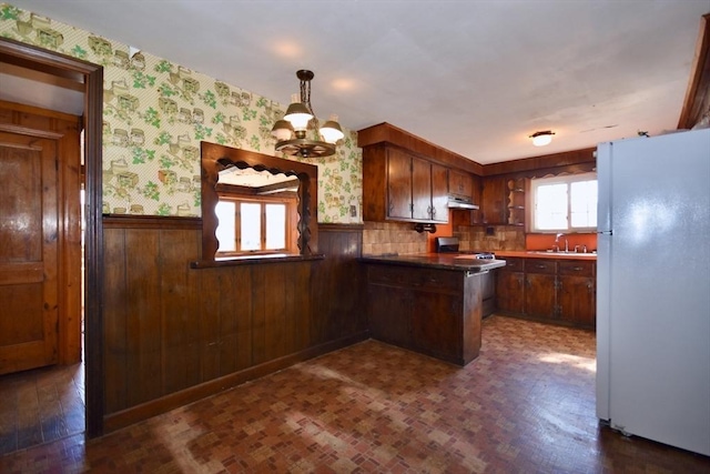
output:
[[[83,94],[80,99],[83,102]],[[84,371],[81,120],[4,101],[0,111],[0,454],[4,454],[83,433]]]

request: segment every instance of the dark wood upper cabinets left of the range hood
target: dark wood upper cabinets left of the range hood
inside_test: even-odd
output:
[[[363,150],[366,221],[448,222],[448,170],[386,145]]]

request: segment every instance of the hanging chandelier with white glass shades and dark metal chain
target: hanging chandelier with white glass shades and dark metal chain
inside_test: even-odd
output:
[[[311,107],[313,77],[313,71],[305,69],[296,72],[301,81],[301,95],[291,95],[291,105],[283,120],[277,120],[271,130],[276,138],[276,151],[291,157],[329,157],[335,153],[337,141],[345,137],[337,123],[337,115],[331,115],[323,127],[318,127],[318,119]]]

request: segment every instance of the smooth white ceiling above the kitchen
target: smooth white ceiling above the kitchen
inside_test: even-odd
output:
[[[674,130],[710,0],[11,0],[359,130],[478,163]],[[552,130],[546,148],[528,135]]]

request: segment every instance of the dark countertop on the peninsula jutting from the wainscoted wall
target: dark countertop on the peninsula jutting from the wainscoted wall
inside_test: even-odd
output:
[[[446,253],[416,253],[405,255],[363,255],[361,262],[385,263],[392,265],[425,266],[440,270],[459,270],[470,273],[483,273],[505,266],[505,260],[476,259],[474,255]]]

